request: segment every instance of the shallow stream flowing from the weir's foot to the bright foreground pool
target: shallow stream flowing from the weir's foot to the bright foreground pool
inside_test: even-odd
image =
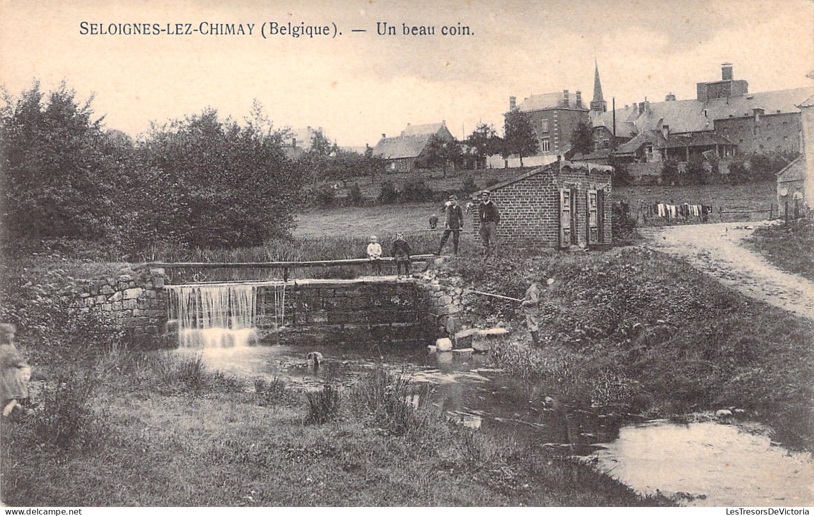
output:
[[[318,370],[305,361],[311,351],[325,357]],[[431,355],[423,348],[372,345],[176,352],[200,352],[213,369],[245,378],[282,378],[306,389],[326,382],[350,386],[361,374],[383,366],[426,383],[430,402],[466,426],[583,457],[637,492],[659,489],[686,505],[814,504],[814,461],[808,453],[790,453],[735,425],[644,422],[610,409],[554,400],[554,386],[506,378],[480,355]],[[385,356],[379,358],[380,353]]]

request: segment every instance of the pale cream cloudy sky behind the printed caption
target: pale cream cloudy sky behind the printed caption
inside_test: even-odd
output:
[[[446,120],[457,138],[481,121],[500,132],[510,95],[590,100],[594,59],[609,108],[613,97],[617,107],[694,98],[723,62],[753,92],[814,85],[811,0],[302,3],[0,0],[0,84],[17,95],[35,79],[44,90],[66,81],[78,98],[95,94],[108,129],[133,137],[205,107],[243,120],[257,99],[275,127],[322,127],[340,146],[373,146],[408,122]],[[128,36],[82,34],[83,22],[255,26],[251,36]],[[271,22],[342,34],[262,37]],[[396,35],[380,36],[378,22]],[[435,36],[405,36],[402,24]],[[458,24],[470,35],[440,34]]]

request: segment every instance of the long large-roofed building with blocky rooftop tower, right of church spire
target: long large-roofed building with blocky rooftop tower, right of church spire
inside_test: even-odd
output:
[[[598,70],[595,88],[598,83]],[[814,88],[749,93],[733,78],[733,65],[721,65],[720,81],[698,82],[696,98],[625,105],[615,111],[591,110],[593,152],[576,160],[630,162],[692,155],[727,158],[738,153],[800,150],[799,104]]]

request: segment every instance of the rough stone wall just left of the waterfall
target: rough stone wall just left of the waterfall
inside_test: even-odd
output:
[[[167,321],[164,269],[137,269],[115,277],[80,282],[70,307],[110,314],[135,339],[160,335]]]

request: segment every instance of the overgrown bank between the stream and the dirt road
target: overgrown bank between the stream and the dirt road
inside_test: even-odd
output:
[[[542,378],[559,396],[650,415],[735,407],[777,438],[812,448],[814,323],[746,298],[681,260],[639,248],[454,261],[446,273],[483,291],[522,297],[523,271],[554,277],[540,350],[492,353],[510,374]],[[488,324],[527,339],[516,306],[481,297]]]

